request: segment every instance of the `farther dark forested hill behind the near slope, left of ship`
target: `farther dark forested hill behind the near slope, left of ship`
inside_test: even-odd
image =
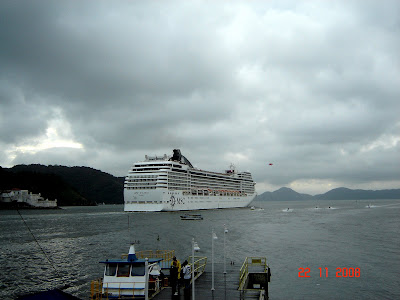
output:
[[[59,176],[65,184],[72,187],[90,203],[124,203],[124,178],[115,177],[100,170],[89,167],[44,166],[39,164],[17,165],[9,170],[16,174],[31,172]],[[41,191],[42,194],[44,192]]]

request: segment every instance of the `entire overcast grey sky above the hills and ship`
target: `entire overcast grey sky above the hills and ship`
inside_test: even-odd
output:
[[[399,53],[397,0],[1,1],[0,165],[400,188]]]

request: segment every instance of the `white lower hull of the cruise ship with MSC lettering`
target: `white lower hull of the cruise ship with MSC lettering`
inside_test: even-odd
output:
[[[125,211],[181,211],[246,207],[256,194],[247,196],[192,196],[182,191],[125,190]]]

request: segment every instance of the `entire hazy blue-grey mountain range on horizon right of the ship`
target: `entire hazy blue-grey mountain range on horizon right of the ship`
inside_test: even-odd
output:
[[[400,199],[400,189],[392,190],[351,190],[348,188],[336,188],[311,196],[300,194],[289,188],[280,188],[275,192],[265,192],[257,196],[255,200],[261,201],[297,201],[297,200],[362,200],[362,199]]]

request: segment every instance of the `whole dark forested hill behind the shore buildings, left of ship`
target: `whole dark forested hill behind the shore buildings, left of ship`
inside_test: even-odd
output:
[[[2,170],[2,173],[11,172],[13,175],[6,176],[11,180],[1,183],[0,189],[20,188],[40,192],[45,198],[57,199],[60,206],[124,203],[124,178],[89,167],[35,164]],[[76,195],[73,195],[74,192]]]

